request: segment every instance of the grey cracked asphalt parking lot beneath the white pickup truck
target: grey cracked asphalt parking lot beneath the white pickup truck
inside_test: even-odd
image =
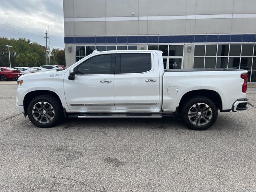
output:
[[[1,192],[256,191],[256,86],[248,110],[205,131],[175,118],[67,119],[38,128],[0,84]]]

